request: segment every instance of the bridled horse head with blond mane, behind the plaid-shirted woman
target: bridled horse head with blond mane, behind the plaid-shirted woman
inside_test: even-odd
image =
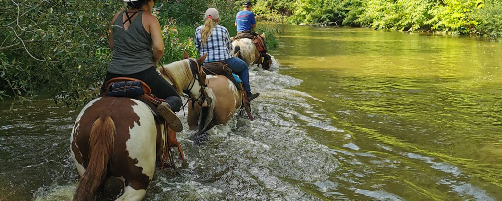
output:
[[[176,88],[180,95],[202,105],[207,98],[205,92],[207,87],[206,73],[202,68],[206,56],[207,54],[197,59],[189,58],[185,51],[183,60],[160,66],[157,70],[164,79]]]

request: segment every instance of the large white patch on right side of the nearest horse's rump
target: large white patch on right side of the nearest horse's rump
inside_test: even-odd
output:
[[[140,117],[140,124],[135,122],[129,130],[131,138],[126,142],[126,147],[129,157],[138,160],[136,166],[143,168],[143,174],[151,180],[155,171],[157,127],[148,106],[140,100],[132,100],[137,104],[133,106],[133,110]]]

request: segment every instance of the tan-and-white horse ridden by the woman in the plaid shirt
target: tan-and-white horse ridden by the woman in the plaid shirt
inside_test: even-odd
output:
[[[244,90],[237,90],[230,79],[223,75],[208,74],[206,75],[206,84],[207,99],[208,103],[210,102],[208,107],[201,107],[189,102],[188,126],[190,130],[196,131],[190,136],[190,139],[196,142],[205,140],[209,129],[228,122],[241,107],[244,108],[248,117],[254,120],[250,114]]]

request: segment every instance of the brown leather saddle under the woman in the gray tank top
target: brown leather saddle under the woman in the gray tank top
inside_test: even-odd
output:
[[[157,106],[159,106],[163,102],[166,102],[165,99],[159,98],[159,97],[155,96],[154,94],[152,94],[152,90],[150,89],[150,87],[147,84],[145,84],[145,82],[143,82],[139,79],[130,78],[130,77],[117,77],[117,78],[113,78],[113,79],[108,80],[105,83],[106,91],[104,93],[100,94],[99,96],[100,97],[106,96],[106,94],[109,90],[109,86],[112,83],[124,82],[123,85],[125,87],[128,85],[131,85],[129,83],[135,82],[135,81],[141,82],[141,88],[143,89],[144,94],[139,95],[139,96],[132,96],[131,98],[138,99],[141,102],[145,103],[150,108],[150,111],[153,113],[153,115],[156,117],[155,118],[156,121],[158,123],[164,124],[164,136],[166,136],[166,141],[165,141],[165,146],[164,146],[164,156],[162,157],[162,161],[161,161],[161,169],[164,168],[164,162],[166,161],[166,159],[169,158],[169,160],[171,162],[171,166],[176,171],[176,167],[174,166],[174,161],[172,159],[172,155],[171,155],[171,151],[170,151],[171,147],[178,148],[178,150],[180,152],[181,160],[185,160],[185,154],[183,153],[183,149],[181,148],[181,144],[178,141],[178,138],[176,137],[176,132],[171,130],[169,128],[169,126],[167,125],[167,121],[165,119],[163,119],[161,116],[157,115],[157,113],[156,113]]]

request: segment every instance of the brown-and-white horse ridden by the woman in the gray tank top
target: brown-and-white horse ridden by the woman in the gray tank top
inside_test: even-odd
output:
[[[157,70],[178,92],[187,90],[189,96],[201,97],[204,59],[205,55],[187,58]],[[116,200],[141,200],[156,162],[162,161],[166,151],[170,153],[165,149],[168,136],[163,134],[164,126],[138,99],[104,96],[89,102],[77,116],[70,136],[71,155],[81,175],[73,200],[94,199],[112,177],[123,182],[123,193]]]

